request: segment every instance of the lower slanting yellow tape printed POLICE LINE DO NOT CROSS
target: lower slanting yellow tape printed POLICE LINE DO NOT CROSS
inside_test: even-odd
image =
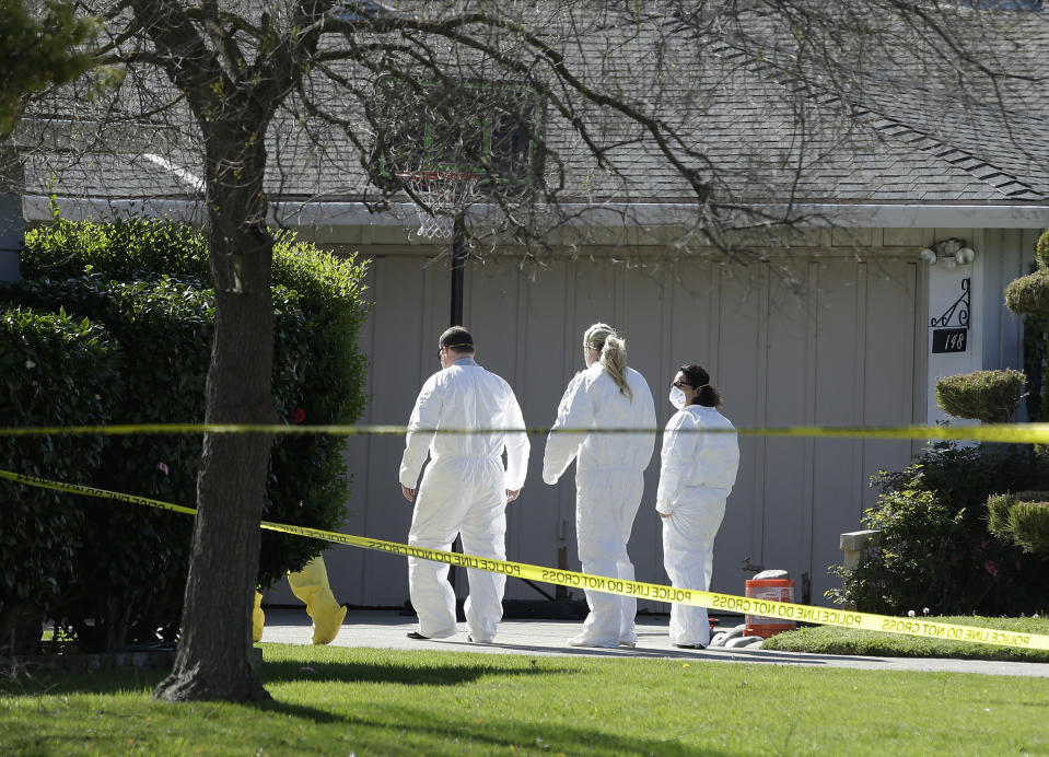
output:
[[[78,484],[63,484],[61,481],[53,481],[46,478],[23,476],[21,474],[10,473],[7,470],[0,470],[0,478],[7,478],[12,481],[18,481],[19,484],[40,487],[44,489],[55,489],[57,491],[66,491],[75,494],[114,499],[120,502],[142,504],[151,508],[159,508],[161,510],[185,513],[187,515],[196,514],[196,510],[193,508],[185,508],[179,504],[172,504],[171,502],[162,502],[160,500],[153,500],[147,497],[137,497],[135,494],[107,491],[106,489],[96,489],[94,487],[82,486]],[[855,610],[813,607],[786,602],[770,602],[767,599],[736,596],[733,594],[700,592],[691,589],[679,589],[656,583],[644,583],[642,581],[623,581],[621,579],[605,578],[603,575],[591,575],[590,573],[580,573],[572,570],[544,568],[543,566],[533,566],[526,562],[512,562],[509,560],[497,560],[494,558],[476,557],[474,555],[446,552],[442,549],[426,549],[422,547],[412,547],[407,544],[399,544],[397,541],[384,541],[382,539],[365,538],[363,536],[337,534],[330,531],[306,528],[304,526],[289,526],[280,523],[269,523],[267,521],[263,521],[260,525],[263,528],[280,532],[283,534],[308,536],[312,538],[331,541],[334,544],[347,544],[353,547],[374,549],[389,555],[401,555],[405,557],[415,557],[422,560],[446,562],[450,566],[456,566],[459,568],[473,568],[475,570],[487,570],[493,573],[505,573],[506,575],[513,575],[518,579],[527,579],[529,581],[543,581],[544,583],[552,583],[558,586],[607,592],[609,594],[630,596],[639,599],[677,602],[685,605],[707,607],[709,609],[727,610],[745,615],[758,615],[782,620],[820,624],[824,626],[860,628],[867,631],[888,631],[890,633],[929,637],[932,639],[952,639],[956,641],[998,644],[1000,647],[1049,650],[1049,636],[1040,633],[1002,631],[993,628],[979,628],[977,626],[959,626],[956,624],[933,622],[931,620],[922,620],[920,618],[896,618],[887,615],[858,613]]]

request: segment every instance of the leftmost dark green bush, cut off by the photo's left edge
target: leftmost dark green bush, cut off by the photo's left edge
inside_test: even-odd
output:
[[[98,325],[62,312],[0,312],[4,424],[105,424],[119,403],[118,365],[117,346]],[[97,435],[3,436],[0,467],[88,482],[103,444]],[[0,648],[12,639],[18,651],[39,643],[40,622],[74,573],[84,529],[80,501],[0,480]]]

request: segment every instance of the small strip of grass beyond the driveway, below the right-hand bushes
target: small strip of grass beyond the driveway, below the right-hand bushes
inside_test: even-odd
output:
[[[1049,634],[1047,618],[986,618],[974,615],[922,616],[923,620],[981,626],[1003,631]],[[777,633],[761,645],[783,652],[816,652],[819,654],[865,654],[885,657],[958,657],[966,660],[1012,660],[1016,662],[1049,663],[1049,650],[974,644],[967,641],[946,641],[924,637],[860,631],[852,628],[815,626],[796,631]]]

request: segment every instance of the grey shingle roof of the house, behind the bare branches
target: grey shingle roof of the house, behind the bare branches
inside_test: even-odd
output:
[[[1002,36],[1003,60],[1025,72],[1049,71],[1049,23],[1042,14],[1025,15],[1029,18]],[[646,36],[654,33],[592,26],[569,40],[563,53],[584,81],[599,83],[679,129],[701,153],[689,159],[690,167],[712,177],[721,201],[1049,202],[1049,94],[1044,86],[1006,81],[995,101],[999,95],[990,91],[937,91],[885,72],[842,96],[729,46],[697,49],[684,39],[654,46]],[[1016,40],[1025,44],[1017,47]],[[477,73],[476,60],[459,60],[468,73]],[[341,117],[364,126],[359,97],[329,82],[315,81],[314,86],[314,94],[337,104]],[[370,86],[363,81],[361,90]],[[638,124],[571,92],[562,95],[574,101],[590,133],[608,148],[607,165],[598,165],[568,121],[547,108],[546,139],[567,177],[562,199],[695,199],[687,180],[661,159]],[[300,114],[283,112],[270,130],[271,196],[377,199],[346,132],[316,120],[303,123]],[[27,158],[25,188],[101,197],[197,196],[197,155],[188,143],[120,155],[45,151]],[[53,176],[59,177],[58,187]]]

